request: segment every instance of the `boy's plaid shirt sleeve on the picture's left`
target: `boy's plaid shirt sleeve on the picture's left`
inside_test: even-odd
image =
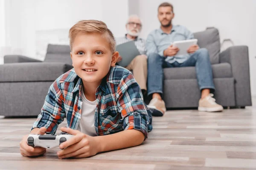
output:
[[[38,115],[32,129],[37,127],[46,127],[47,132],[55,134],[58,125],[63,122],[65,116],[63,101],[63,94],[61,93],[57,79],[50,86],[44,101],[44,106],[41,109],[41,113]]]

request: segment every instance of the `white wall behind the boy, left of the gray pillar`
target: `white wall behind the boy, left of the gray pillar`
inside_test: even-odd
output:
[[[128,0],[4,1],[6,45],[12,53],[43,60],[38,45],[45,51],[49,42],[68,42],[68,30],[79,20],[102,20],[115,36],[125,34]]]

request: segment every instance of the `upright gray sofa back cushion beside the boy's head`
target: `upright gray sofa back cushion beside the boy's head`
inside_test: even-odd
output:
[[[70,46],[48,44],[44,62],[64,62],[72,65]]]

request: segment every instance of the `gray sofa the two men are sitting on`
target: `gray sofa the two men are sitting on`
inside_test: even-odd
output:
[[[220,53],[216,28],[194,33],[201,48],[207,48],[212,63],[216,102],[228,107],[252,105],[250,94],[249,57],[247,46],[232,46]],[[166,108],[198,107],[201,93],[195,67],[165,68],[163,100]]]

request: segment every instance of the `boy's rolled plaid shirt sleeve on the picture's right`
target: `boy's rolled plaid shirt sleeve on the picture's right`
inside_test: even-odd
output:
[[[117,106],[123,120],[123,129],[140,130],[148,137],[148,112],[140,86],[131,73],[123,75],[117,88]]]

